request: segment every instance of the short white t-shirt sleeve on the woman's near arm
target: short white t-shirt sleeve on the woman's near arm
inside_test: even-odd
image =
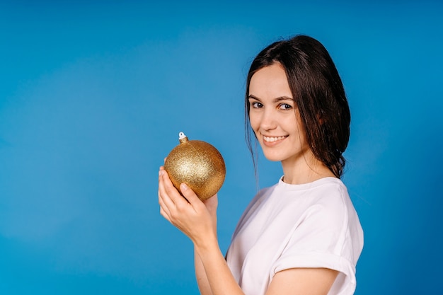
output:
[[[324,267],[340,274],[330,294],[353,294],[355,263],[349,212],[340,197],[330,197],[309,207],[282,245],[271,276],[297,267]]]

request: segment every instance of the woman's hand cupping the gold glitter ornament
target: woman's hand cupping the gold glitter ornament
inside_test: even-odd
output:
[[[217,239],[217,195],[202,202],[188,185],[180,192],[173,186],[163,167],[159,170],[160,214],[183,231],[196,245]]]

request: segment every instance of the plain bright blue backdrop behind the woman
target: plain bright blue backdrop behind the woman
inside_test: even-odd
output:
[[[0,294],[197,294],[158,168],[180,131],[222,152],[225,252],[257,190],[248,66],[299,33],[352,112],[356,294],[443,293],[442,1],[123,2],[0,2]],[[260,158],[259,187],[281,174]]]

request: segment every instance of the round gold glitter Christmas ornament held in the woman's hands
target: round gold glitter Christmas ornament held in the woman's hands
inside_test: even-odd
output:
[[[226,167],[222,155],[205,141],[188,140],[180,132],[180,144],[165,161],[165,170],[176,189],[186,183],[201,200],[209,199],[222,187]]]

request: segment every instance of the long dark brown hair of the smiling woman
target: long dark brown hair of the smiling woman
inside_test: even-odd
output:
[[[249,83],[265,66],[280,63],[286,72],[292,97],[300,112],[306,140],[316,158],[337,178],[343,175],[343,152],[350,136],[350,110],[345,90],[326,48],[306,35],[274,42],[253,60],[246,81],[246,141],[255,156],[249,122]]]

